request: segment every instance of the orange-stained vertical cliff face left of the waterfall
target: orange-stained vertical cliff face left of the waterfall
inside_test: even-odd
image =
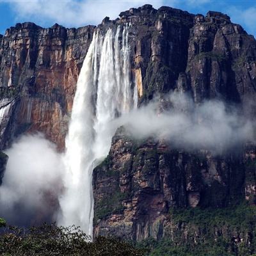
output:
[[[17,24],[0,38],[1,99],[12,102],[1,148],[22,132],[40,131],[61,149],[79,70],[94,27],[44,29]]]

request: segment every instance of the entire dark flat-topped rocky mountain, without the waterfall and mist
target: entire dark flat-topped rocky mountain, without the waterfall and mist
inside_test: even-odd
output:
[[[164,95],[174,90],[191,95],[196,106],[218,99],[255,117],[255,38],[220,12],[204,17],[146,4],[116,20],[106,17],[97,28],[45,29],[26,22],[0,36],[1,150],[35,131],[64,150],[93,32],[105,35],[124,24],[138,108],[154,97],[168,108]],[[93,170],[93,236],[153,237],[189,248],[220,242],[231,255],[255,253],[256,147],[246,142],[216,155],[136,140],[120,127],[108,157]]]

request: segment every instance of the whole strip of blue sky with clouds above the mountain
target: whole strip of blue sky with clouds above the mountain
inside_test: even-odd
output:
[[[120,12],[146,3],[155,8],[165,5],[204,15],[209,10],[227,13],[233,22],[256,36],[256,0],[0,0],[0,33],[25,21],[43,27],[54,23],[69,28],[97,25],[106,16],[115,19]]]

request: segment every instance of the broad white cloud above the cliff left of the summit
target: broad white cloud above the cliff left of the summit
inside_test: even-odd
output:
[[[16,21],[26,19],[41,26],[58,23],[63,26],[97,25],[104,17],[116,19],[120,12],[143,4],[152,4],[155,8],[163,5],[164,1],[78,1],[78,0],[54,0],[54,1],[9,1],[13,12],[16,13]]]

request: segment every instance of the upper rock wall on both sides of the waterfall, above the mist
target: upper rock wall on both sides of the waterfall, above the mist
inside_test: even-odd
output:
[[[175,88],[196,102],[254,99],[256,42],[227,15],[204,17],[146,4],[120,13],[120,19],[106,17],[98,28],[104,33],[127,22],[139,105]],[[44,29],[26,22],[0,36],[0,96],[13,100],[1,148],[35,131],[64,148],[77,77],[94,30],[58,24]]]

